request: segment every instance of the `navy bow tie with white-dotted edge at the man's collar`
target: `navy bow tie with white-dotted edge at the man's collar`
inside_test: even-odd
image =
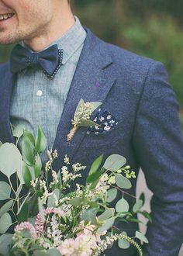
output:
[[[63,50],[59,50],[56,44],[39,53],[32,53],[17,44],[12,50],[10,67],[12,73],[18,73],[27,67],[40,67],[48,78],[53,79],[62,64],[62,59]]]

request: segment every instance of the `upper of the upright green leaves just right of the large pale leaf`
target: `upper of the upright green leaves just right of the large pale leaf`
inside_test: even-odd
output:
[[[29,137],[25,136],[25,133],[23,134],[23,139],[22,139],[22,157],[23,157],[23,160],[26,162],[26,164],[34,165],[35,148],[33,146],[32,141],[29,140]]]

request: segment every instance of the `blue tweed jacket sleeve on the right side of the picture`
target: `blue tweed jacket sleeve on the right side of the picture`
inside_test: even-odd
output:
[[[144,255],[178,256],[183,242],[183,139],[178,103],[161,63],[150,67],[143,85],[133,147],[154,193]]]

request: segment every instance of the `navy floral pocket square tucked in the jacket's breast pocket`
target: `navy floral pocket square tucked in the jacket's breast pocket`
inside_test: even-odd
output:
[[[98,110],[98,114],[94,119],[95,123],[98,123],[100,126],[91,126],[88,129],[88,134],[98,134],[98,133],[105,133],[115,127],[119,120],[116,119],[115,116],[112,116],[112,114],[108,111],[101,111],[101,109]]]

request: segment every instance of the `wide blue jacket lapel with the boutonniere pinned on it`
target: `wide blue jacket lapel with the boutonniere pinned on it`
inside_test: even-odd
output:
[[[54,149],[57,149],[60,155],[55,162],[55,168],[57,169],[60,167],[65,154],[70,159],[74,157],[88,130],[88,127],[80,127],[75,133],[73,140],[67,143],[67,133],[69,133],[72,127],[71,119],[73,119],[80,99],[84,99],[85,102],[104,102],[110,88],[116,81],[116,72],[113,71],[112,67],[112,58],[105,43],[94,36],[88,29],[87,33],[85,46],[67,95],[59,126],[57,127],[57,136],[54,142]],[[93,117],[95,116],[94,114]]]

